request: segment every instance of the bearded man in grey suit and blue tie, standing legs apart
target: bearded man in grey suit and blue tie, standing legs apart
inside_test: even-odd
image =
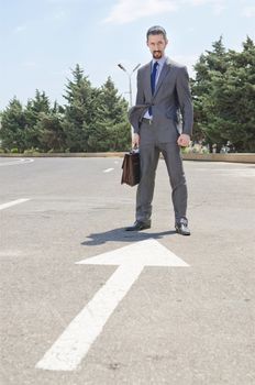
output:
[[[176,231],[190,235],[180,146],[189,145],[193,110],[187,69],[165,56],[167,43],[162,26],[147,31],[153,59],[138,69],[136,103],[129,113],[134,129],[133,146],[140,147],[141,182],[136,193],[136,220],[125,230],[151,228],[155,173],[162,153],[170,179]]]

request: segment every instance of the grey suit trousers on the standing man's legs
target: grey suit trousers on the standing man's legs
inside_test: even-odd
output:
[[[145,123],[142,123],[145,124]],[[159,143],[154,141],[140,144],[141,182],[136,193],[136,220],[147,221],[152,216],[156,168],[159,154],[165,160],[171,186],[171,201],[175,210],[175,220],[186,218],[187,185],[180,156],[180,148],[176,142]]]

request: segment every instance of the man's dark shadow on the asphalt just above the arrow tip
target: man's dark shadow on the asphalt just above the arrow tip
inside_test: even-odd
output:
[[[144,231],[125,231],[123,228],[112,229],[106,232],[91,233],[87,237],[88,240],[81,242],[82,245],[93,246],[98,244],[104,244],[107,242],[137,242],[153,239],[162,239],[164,235],[176,234],[176,231],[162,231],[162,232],[144,232]]]

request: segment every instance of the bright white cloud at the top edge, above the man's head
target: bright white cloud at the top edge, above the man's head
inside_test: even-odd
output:
[[[176,9],[177,1],[174,0],[119,0],[104,22],[124,24],[144,16],[174,12]]]

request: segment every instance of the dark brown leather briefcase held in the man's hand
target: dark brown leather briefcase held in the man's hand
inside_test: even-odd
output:
[[[122,163],[121,184],[135,186],[140,183],[140,154],[138,152],[130,152],[124,155]]]

